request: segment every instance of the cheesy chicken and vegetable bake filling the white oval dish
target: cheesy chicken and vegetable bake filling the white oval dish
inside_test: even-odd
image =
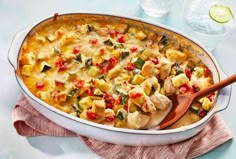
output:
[[[57,109],[144,129],[152,125],[152,114],[169,109],[168,95],[194,93],[212,83],[207,67],[173,41],[125,23],[55,22],[24,41],[19,72],[36,97]],[[213,97],[193,104],[190,123],[211,109]]]

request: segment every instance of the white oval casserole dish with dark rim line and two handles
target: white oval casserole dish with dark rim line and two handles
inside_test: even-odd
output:
[[[184,35],[164,25],[150,23],[148,21],[137,18],[92,13],[64,14],[58,16],[57,18],[104,18],[113,21],[122,20],[128,23],[142,25],[144,27],[155,28],[157,31],[163,32],[165,35],[178,36],[179,38],[185,40],[186,43],[189,43],[194,53],[196,53],[198,57],[212,71],[214,82],[218,82],[219,80],[227,77],[220,66],[217,64],[217,61],[215,60],[213,55],[203,45],[191,39],[191,37],[188,37],[187,35]],[[8,56],[9,62],[13,66],[14,70],[17,70],[18,68],[19,51],[27,35],[32,32],[34,28],[50,23],[52,20],[53,17],[47,18],[29,28],[19,31],[16,34],[9,49]],[[80,135],[109,143],[124,145],[164,145],[186,140],[199,133],[216,112],[226,109],[231,95],[231,86],[227,86],[220,90],[214,108],[203,119],[194,124],[169,130],[130,130],[93,123],[64,113],[35,97],[26,88],[21,78],[17,75],[17,72],[15,72],[15,76],[20,88],[22,89],[22,92],[24,93],[28,101],[37,111],[39,111],[49,120]]]

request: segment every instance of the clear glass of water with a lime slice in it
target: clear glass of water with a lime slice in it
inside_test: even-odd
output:
[[[235,27],[234,11],[229,0],[185,0],[184,31],[213,50]]]

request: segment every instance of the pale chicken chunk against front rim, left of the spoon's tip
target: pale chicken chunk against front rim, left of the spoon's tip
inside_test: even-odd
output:
[[[129,113],[127,117],[127,123],[131,129],[142,129],[147,125],[149,120],[150,116],[144,115],[138,111]]]

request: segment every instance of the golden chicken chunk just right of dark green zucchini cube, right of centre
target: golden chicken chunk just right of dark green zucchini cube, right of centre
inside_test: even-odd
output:
[[[153,77],[159,74],[158,68],[151,61],[146,61],[141,71],[143,76]]]

